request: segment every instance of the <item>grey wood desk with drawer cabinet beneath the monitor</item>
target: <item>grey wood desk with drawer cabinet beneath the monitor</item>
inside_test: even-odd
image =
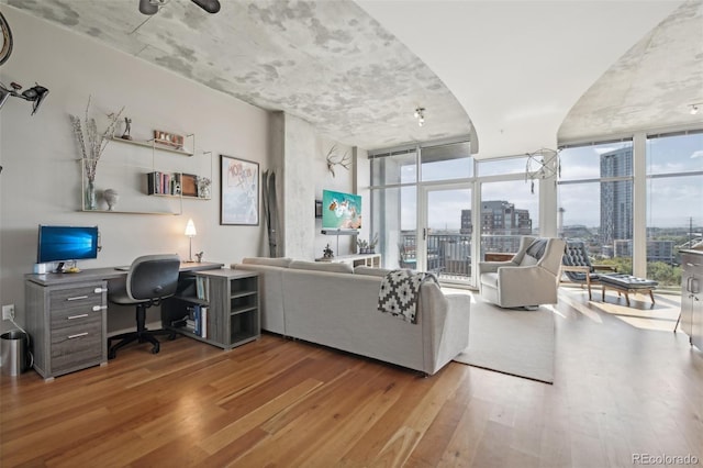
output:
[[[182,263],[181,274],[220,269],[223,264]],[[114,268],[77,274],[25,275],[26,331],[34,369],[45,379],[108,361],[108,281],[126,278]]]

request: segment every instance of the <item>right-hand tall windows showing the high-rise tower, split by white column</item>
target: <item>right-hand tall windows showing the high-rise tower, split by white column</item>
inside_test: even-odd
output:
[[[679,250],[701,242],[703,133],[646,135],[560,153],[558,231],[594,260],[678,290]]]

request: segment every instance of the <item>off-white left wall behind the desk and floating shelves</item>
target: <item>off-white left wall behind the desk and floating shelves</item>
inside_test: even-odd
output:
[[[228,265],[264,252],[263,221],[259,226],[220,225],[219,155],[258,161],[260,171],[266,170],[269,165],[266,111],[11,7],[4,5],[2,12],[12,29],[14,49],[0,68],[0,80],[7,86],[16,81],[25,88],[36,81],[47,87],[49,94],[33,116],[31,103],[16,98],[10,98],[1,111],[0,303],[14,303],[18,316],[22,317],[23,275],[31,272],[36,261],[38,224],[99,225],[102,252],[97,260],[81,261],[82,268],[124,265],[138,255],[152,253],[178,253],[187,258],[188,238],[183,230],[189,218],[198,230],[193,250],[204,250],[205,260]],[[133,136],[148,135],[154,129],[193,133],[197,155],[189,160],[175,155],[163,164],[170,164],[170,159],[175,168],[185,165],[181,170],[187,171],[188,165],[194,164],[201,170],[202,159],[198,158],[205,157],[202,152],[212,152],[213,199],[185,200],[181,215],[78,212],[81,174],[68,115],[82,115],[89,94],[99,122],[103,122],[101,112],[124,105],[124,114],[133,119]],[[104,179],[119,167],[112,160],[127,153],[130,157],[140,157],[133,151],[124,144],[108,146],[98,166],[99,189],[108,188],[101,175]],[[143,157],[150,163],[150,152]],[[143,171],[135,170],[125,169],[125,178]],[[129,183],[121,192],[120,203],[125,209],[154,202],[153,197]],[[312,207],[309,211],[312,213]],[[312,215],[308,218],[312,220]]]

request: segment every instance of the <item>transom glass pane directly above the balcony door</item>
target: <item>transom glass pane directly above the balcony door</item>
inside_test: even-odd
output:
[[[473,174],[468,142],[425,147],[420,154],[423,181],[460,179]]]

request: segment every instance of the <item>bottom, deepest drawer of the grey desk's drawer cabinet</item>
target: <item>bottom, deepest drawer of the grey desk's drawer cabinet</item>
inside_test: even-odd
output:
[[[99,315],[83,321],[79,326],[52,331],[52,372],[97,364],[102,359],[105,338]]]

